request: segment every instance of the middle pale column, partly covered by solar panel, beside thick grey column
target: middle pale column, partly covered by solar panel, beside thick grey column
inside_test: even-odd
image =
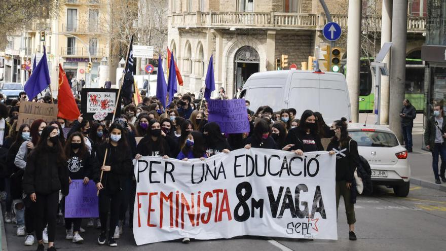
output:
[[[392,40],[392,3],[393,0],[383,0],[383,11],[381,21],[381,47],[386,42]],[[390,52],[383,60],[390,70]],[[390,92],[389,76],[381,76],[381,124],[389,123],[389,92]]]

